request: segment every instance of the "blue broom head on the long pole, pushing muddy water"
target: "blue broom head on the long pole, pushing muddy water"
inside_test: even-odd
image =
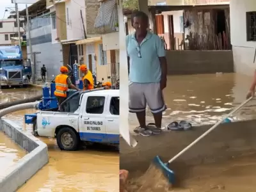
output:
[[[154,157],[153,163],[156,165],[157,168],[161,169],[164,174],[164,177],[168,179],[170,184],[174,184],[175,182],[175,175],[170,168],[168,168],[168,163],[163,163],[159,156]]]

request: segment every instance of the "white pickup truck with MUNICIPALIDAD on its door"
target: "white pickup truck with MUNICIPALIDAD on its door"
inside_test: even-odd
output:
[[[76,150],[80,141],[119,144],[119,90],[82,92],[63,104],[64,112],[38,111],[38,136],[56,138],[61,150]]]

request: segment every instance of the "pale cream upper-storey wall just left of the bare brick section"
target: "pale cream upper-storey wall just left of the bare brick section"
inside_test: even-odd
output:
[[[77,40],[84,38],[83,21],[81,18],[81,10],[83,20],[85,19],[85,1],[76,0],[65,2],[65,20],[67,24],[67,40]],[[85,26],[84,26],[85,27]]]

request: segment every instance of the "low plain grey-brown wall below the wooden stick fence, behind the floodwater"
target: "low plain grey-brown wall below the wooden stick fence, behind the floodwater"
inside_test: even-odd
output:
[[[232,51],[166,51],[168,74],[234,72]]]

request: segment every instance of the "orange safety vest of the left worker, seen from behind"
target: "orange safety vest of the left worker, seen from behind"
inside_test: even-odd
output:
[[[55,85],[56,85],[56,90],[54,92],[55,96],[67,97],[67,90],[68,90],[67,78],[68,76],[65,74],[60,74],[55,78]]]

